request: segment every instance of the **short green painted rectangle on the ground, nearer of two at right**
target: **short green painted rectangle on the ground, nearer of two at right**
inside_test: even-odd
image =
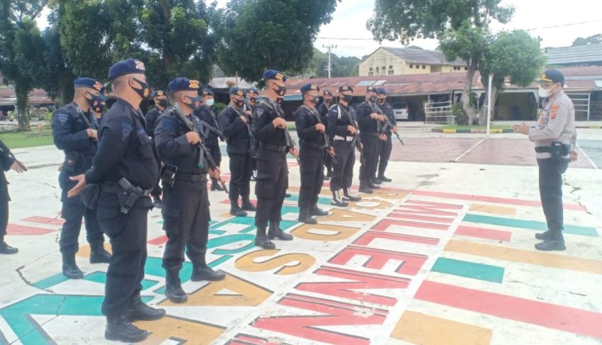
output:
[[[437,259],[431,271],[492,283],[501,283],[504,280],[504,267],[443,257]]]

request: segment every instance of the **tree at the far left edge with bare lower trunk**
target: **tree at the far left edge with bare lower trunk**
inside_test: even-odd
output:
[[[29,91],[40,84],[44,68],[43,40],[35,26],[46,1],[0,0],[0,72],[13,84],[18,128],[27,130]]]

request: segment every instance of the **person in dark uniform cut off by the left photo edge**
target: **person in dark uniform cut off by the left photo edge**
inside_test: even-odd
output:
[[[27,168],[15,158],[2,140],[0,140],[0,168],[0,254],[17,254],[18,249],[4,242],[8,225],[8,201],[11,200],[11,197],[8,196],[8,181],[6,181],[4,171],[13,169],[21,174],[23,171],[27,171]]]

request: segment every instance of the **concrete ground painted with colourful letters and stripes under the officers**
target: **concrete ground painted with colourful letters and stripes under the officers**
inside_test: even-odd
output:
[[[395,157],[426,157],[414,140],[424,138],[396,145]],[[8,174],[7,242],[20,252],[0,257],[0,343],[110,344],[100,314],[106,266],[87,261],[83,231],[84,279],[59,273],[61,155],[54,147],[16,153],[32,169]],[[331,208],[325,187],[319,203],[331,212],[318,225],[296,221],[290,160],[283,225],[295,240],[276,250],[254,247],[252,214],[230,217],[225,193],[211,192],[208,261],[228,276],[192,282],[187,264],[183,305],[163,295],[166,239],[153,210],[143,295],[168,316],[137,323],[152,331],[145,344],[602,344],[601,172],[569,169],[567,251],[543,253],[533,248],[533,234],[545,230],[536,168],[453,159],[391,162],[394,182],[348,209]]]

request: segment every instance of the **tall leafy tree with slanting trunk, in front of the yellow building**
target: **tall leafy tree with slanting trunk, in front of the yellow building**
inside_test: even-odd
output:
[[[514,9],[501,6],[501,0],[376,0],[374,15],[367,23],[375,39],[401,40],[438,38],[446,57],[467,62],[462,109],[470,123],[477,117],[471,106],[472,80],[487,51],[491,21],[508,23]]]

